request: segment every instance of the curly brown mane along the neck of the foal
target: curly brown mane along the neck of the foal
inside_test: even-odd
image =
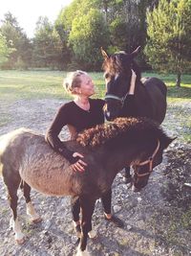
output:
[[[76,141],[83,147],[90,146],[94,148],[106,144],[111,139],[117,138],[124,134],[131,140],[132,138],[139,138],[151,135],[161,137],[163,131],[159,126],[148,120],[147,118],[117,118],[113,122],[108,122],[102,125],[97,125],[95,128],[85,129],[79,133]]]

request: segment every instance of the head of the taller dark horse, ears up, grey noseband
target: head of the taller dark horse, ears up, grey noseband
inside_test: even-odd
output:
[[[132,75],[140,76],[138,66],[134,61],[138,51],[139,47],[131,54],[119,52],[109,56],[101,49],[104,58],[103,70],[106,82],[105,117],[107,120],[112,120],[119,116],[120,109],[129,93]]]

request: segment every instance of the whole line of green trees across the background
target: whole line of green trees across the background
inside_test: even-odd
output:
[[[180,75],[189,72],[191,0],[74,0],[52,24],[39,17],[32,39],[8,12],[0,26],[0,68],[100,71],[109,54],[141,46],[138,62]],[[179,84],[178,84],[179,85]]]

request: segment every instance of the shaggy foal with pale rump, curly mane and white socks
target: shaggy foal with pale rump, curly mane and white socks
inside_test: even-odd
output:
[[[74,173],[70,163],[48,146],[44,136],[26,128],[1,136],[0,169],[8,188],[15,240],[24,242],[16,210],[17,190],[22,184],[27,213],[35,222],[40,217],[32,206],[31,187],[47,195],[79,197],[82,231],[77,255],[85,255],[96,199],[111,188],[117,172],[125,166],[134,166],[134,185],[143,188],[172,140],[147,119],[117,118],[65,142],[68,149],[82,153],[88,164],[84,173]]]

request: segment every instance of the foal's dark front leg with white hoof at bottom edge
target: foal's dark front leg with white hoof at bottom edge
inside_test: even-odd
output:
[[[80,197],[80,207],[82,213],[82,221],[81,221],[81,238],[77,248],[77,256],[85,256],[89,255],[86,250],[88,234],[91,235],[92,231],[92,216],[95,209],[95,202],[88,197]]]

